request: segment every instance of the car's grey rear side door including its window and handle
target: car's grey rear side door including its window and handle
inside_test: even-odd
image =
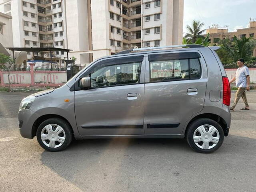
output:
[[[198,51],[148,54],[145,73],[145,134],[181,134],[204,107],[207,68]]]

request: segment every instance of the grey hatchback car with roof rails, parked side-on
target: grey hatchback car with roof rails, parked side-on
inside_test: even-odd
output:
[[[62,87],[24,98],[20,134],[49,151],[119,137],[186,138],[197,152],[213,152],[231,121],[218,48],[140,48],[95,60]]]

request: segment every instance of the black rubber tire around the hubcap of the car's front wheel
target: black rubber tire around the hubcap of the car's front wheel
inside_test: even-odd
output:
[[[64,130],[65,132],[65,135],[66,135],[66,138],[65,138],[65,141],[63,142],[63,144],[59,147],[56,147],[56,148],[51,148],[51,147],[48,147],[46,146],[42,139],[41,139],[41,132],[42,132],[42,129],[46,126],[46,125],[49,125],[49,124],[56,124],[56,125],[59,125],[62,127],[62,129]],[[39,126],[38,126],[38,129],[36,131],[36,138],[38,140],[38,143],[40,144],[40,146],[42,148],[44,148],[45,150],[48,150],[48,151],[61,151],[61,150],[64,150],[65,148],[67,148],[69,146],[69,144],[71,143],[72,141],[72,129],[70,127],[70,125],[62,120],[61,118],[49,118],[47,120],[44,120]],[[58,143],[58,142],[57,142]]]

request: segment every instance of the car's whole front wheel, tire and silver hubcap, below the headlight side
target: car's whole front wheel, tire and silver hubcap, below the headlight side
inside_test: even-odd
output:
[[[48,151],[61,151],[71,143],[72,131],[66,121],[50,118],[39,125],[36,138],[42,148]]]

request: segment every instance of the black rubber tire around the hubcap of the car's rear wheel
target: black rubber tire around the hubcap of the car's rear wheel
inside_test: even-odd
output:
[[[195,130],[198,127],[200,127],[202,125],[207,125],[207,124],[214,126],[218,130],[220,138],[219,138],[219,142],[213,148],[202,149],[195,144],[193,136],[194,136]],[[223,140],[224,140],[224,131],[223,131],[222,127],[220,126],[220,124],[218,124],[216,121],[214,121],[212,119],[208,119],[208,118],[200,118],[200,119],[194,120],[190,124],[190,126],[188,127],[188,131],[186,133],[186,139],[187,139],[190,147],[193,148],[196,152],[211,153],[211,152],[214,152],[215,150],[217,150],[222,145]]]

